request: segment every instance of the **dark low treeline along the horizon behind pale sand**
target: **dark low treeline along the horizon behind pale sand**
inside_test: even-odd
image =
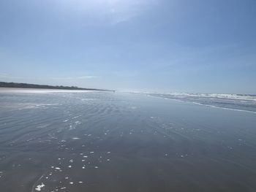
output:
[[[19,83],[19,82],[0,82],[1,88],[48,88],[48,89],[68,89],[68,90],[88,90],[88,91],[113,91],[106,89],[97,88],[78,88],[75,86],[53,86],[53,85],[36,85],[29,83]]]

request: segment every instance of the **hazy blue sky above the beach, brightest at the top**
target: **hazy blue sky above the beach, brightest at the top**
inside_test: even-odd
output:
[[[256,93],[255,0],[0,0],[0,81]]]

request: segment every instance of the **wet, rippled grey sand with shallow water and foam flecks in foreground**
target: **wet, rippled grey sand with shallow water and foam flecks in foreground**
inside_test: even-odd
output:
[[[256,191],[255,125],[146,95],[0,93],[0,191]]]

